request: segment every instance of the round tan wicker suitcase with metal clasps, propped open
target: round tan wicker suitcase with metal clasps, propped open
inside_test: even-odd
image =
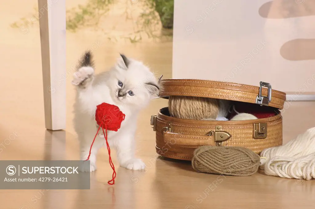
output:
[[[168,107],[152,115],[156,151],[167,158],[191,160],[203,145],[246,147],[259,154],[263,149],[282,145],[282,116],[286,94],[269,83],[259,87],[209,80],[164,79],[159,97],[195,96],[230,100],[241,112],[256,120],[202,121],[171,117]],[[266,88],[264,88],[266,87]],[[238,111],[239,112],[239,111]],[[231,116],[235,112],[231,112]]]

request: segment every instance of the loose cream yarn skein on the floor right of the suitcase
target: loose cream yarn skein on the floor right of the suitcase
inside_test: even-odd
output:
[[[295,139],[263,150],[261,169],[265,174],[290,179],[315,178],[315,127],[299,134]]]

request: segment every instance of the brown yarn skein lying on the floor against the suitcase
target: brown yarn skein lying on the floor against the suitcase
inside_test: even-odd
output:
[[[201,146],[192,158],[193,169],[210,174],[249,176],[259,165],[259,155],[245,147]]]

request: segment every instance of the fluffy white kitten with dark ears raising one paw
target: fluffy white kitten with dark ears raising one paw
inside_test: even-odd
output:
[[[133,170],[145,168],[141,159],[135,158],[135,131],[140,110],[158,95],[160,86],[154,74],[143,63],[120,55],[115,66],[95,75],[92,53],[86,52],[72,84],[77,96],[74,104],[74,127],[80,141],[80,158],[86,160],[98,125],[95,121],[96,105],[103,102],[117,105],[126,115],[120,129],[108,131],[108,143],[117,151],[121,167]],[[90,168],[96,170],[96,155],[105,144],[103,133],[96,137],[90,155]]]

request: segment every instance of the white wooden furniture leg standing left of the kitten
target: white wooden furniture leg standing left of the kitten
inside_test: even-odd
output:
[[[66,128],[66,0],[38,0],[45,126]]]

